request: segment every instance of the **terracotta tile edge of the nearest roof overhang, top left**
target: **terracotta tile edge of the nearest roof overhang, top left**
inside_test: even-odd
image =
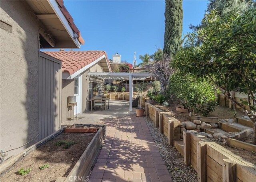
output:
[[[63,0],[56,0],[56,2],[58,3],[61,12],[64,14],[66,19],[68,20],[68,23],[70,24],[70,27],[72,28],[72,30],[78,35],[77,37],[78,41],[80,41],[80,43],[84,45],[84,39],[81,36],[79,29],[76,27],[72,16],[69,14],[68,10],[64,6]]]

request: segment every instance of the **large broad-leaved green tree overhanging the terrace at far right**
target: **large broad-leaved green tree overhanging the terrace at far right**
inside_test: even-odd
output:
[[[213,10],[203,23],[206,26],[186,35],[185,47],[176,54],[174,66],[208,78],[240,106],[253,122],[256,144],[256,8],[244,13],[234,10],[224,16]],[[196,44],[198,40],[200,44]],[[235,88],[248,94],[247,101],[232,98],[230,91]]]

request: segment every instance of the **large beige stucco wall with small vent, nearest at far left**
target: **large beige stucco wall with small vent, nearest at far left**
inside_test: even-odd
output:
[[[8,157],[38,141],[39,22],[24,1],[1,1],[0,19],[12,33],[0,29],[0,150]]]

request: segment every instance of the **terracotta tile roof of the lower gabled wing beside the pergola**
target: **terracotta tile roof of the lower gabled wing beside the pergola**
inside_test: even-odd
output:
[[[70,75],[103,55],[106,56],[110,68],[108,56],[105,51],[46,51],[44,53],[62,61],[62,72],[68,72]]]

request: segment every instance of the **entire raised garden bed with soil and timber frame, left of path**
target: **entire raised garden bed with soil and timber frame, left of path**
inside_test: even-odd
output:
[[[24,157],[2,172],[1,180],[69,182],[73,180],[70,176],[86,179],[102,146],[106,126],[72,126],[63,131],[65,128],[45,143],[44,139],[30,147]],[[30,172],[20,175],[18,171],[22,168],[24,171],[30,169]]]

